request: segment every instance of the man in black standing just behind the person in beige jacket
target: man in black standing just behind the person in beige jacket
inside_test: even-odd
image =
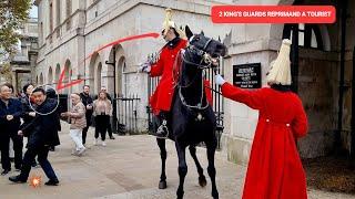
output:
[[[88,133],[88,129],[91,125],[91,117],[92,117],[92,113],[93,113],[93,107],[92,107],[92,103],[93,103],[93,100],[91,98],[90,96],[90,86],[89,85],[84,85],[83,86],[83,92],[80,93],[80,98],[81,98],[81,102],[85,105],[87,107],[87,112],[85,112],[85,117],[87,117],[87,127],[84,127],[82,129],[82,144],[85,145],[87,143],[87,133]]]

